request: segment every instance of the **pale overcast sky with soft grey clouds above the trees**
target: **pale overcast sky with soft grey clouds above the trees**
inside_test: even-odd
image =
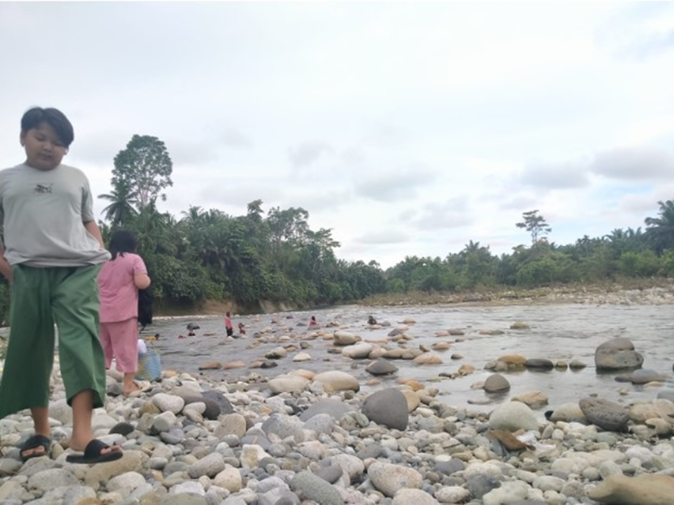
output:
[[[568,244],[674,199],[674,3],[0,3],[0,75],[0,166],[55,106],[94,195],[153,135],[161,210],[304,207],[384,268],[510,253],[532,209]]]

